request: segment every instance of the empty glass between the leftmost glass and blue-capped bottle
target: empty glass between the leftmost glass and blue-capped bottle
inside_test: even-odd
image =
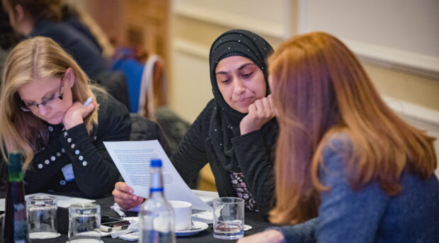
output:
[[[78,203],[69,206],[69,243],[101,242],[101,206]]]

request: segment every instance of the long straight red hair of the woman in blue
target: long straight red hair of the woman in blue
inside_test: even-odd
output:
[[[295,224],[317,216],[319,192],[330,190],[319,181],[322,149],[333,135],[350,137],[352,151],[341,155],[354,190],[373,180],[395,195],[405,168],[422,179],[433,174],[435,138],[382,101],[340,40],[326,33],[290,38],[269,57],[268,72],[280,126],[272,222]]]

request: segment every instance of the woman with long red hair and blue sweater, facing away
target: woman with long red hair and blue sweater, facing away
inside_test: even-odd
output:
[[[239,242],[438,242],[433,137],[401,120],[331,35],[269,58],[280,135],[271,222]]]

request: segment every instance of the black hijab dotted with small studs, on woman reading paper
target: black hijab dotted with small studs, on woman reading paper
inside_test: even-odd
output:
[[[220,35],[210,48],[210,82],[212,83],[212,92],[216,103],[210,119],[210,141],[221,166],[227,171],[241,171],[236,161],[231,140],[233,137],[241,135],[239,123],[247,114],[234,110],[226,103],[217,85],[215,69],[218,62],[226,57],[247,57],[262,70],[266,79],[266,95],[268,95],[270,91],[268,89],[266,59],[271,52],[273,52],[273,47],[266,40],[248,30],[229,30]],[[277,122],[275,119],[263,125],[261,130],[268,135],[264,136],[264,139],[267,140],[266,144],[273,145],[273,140],[277,136]]]

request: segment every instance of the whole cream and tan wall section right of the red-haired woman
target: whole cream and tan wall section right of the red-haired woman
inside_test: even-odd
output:
[[[438,0],[300,0],[298,8],[300,33],[324,31],[343,40],[389,105],[411,125],[439,137]],[[428,82],[433,89],[419,77],[433,79]],[[439,155],[438,140],[435,150]]]

